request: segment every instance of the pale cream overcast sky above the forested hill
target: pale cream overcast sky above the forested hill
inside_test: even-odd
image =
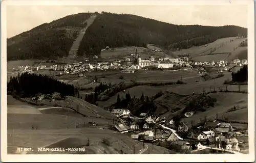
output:
[[[139,15],[173,24],[238,25],[247,28],[247,6],[7,6],[7,38],[81,12]]]

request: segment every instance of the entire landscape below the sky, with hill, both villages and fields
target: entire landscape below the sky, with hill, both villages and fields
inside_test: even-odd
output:
[[[249,153],[245,28],[86,12],[7,43],[8,153]]]

